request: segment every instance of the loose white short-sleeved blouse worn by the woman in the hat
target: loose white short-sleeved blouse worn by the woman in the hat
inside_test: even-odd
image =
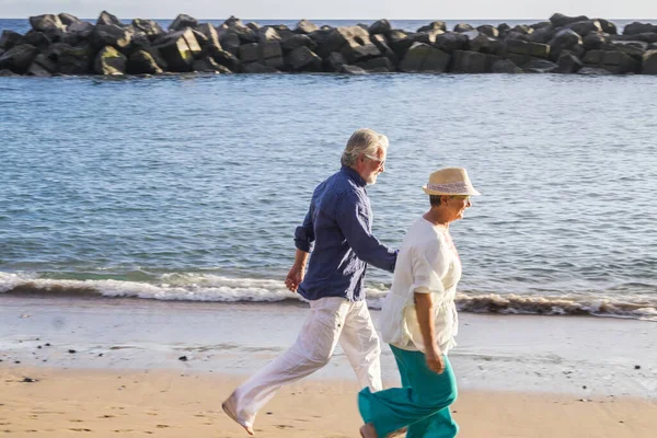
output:
[[[447,354],[457,345],[459,319],[454,298],[460,278],[461,261],[449,230],[417,219],[404,238],[392,287],[381,309],[383,341],[402,349],[425,351],[414,295],[431,293],[436,341]]]

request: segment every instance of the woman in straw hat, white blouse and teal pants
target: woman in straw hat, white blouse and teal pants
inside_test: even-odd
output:
[[[480,193],[461,168],[431,173],[423,189],[431,207],[404,238],[381,312],[383,341],[394,354],[403,388],[360,392],[364,438],[396,436],[406,428],[407,438],[451,438],[459,431],[449,412],[457,381],[447,353],[457,345],[461,261],[449,224]]]

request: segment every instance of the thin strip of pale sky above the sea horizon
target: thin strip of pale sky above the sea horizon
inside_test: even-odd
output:
[[[231,4],[232,3],[232,4]],[[102,10],[122,19],[541,19],[554,12],[602,19],[657,18],[657,0],[0,0],[0,18],[68,12],[83,19]]]

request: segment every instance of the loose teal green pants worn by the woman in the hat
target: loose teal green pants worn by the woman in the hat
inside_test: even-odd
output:
[[[403,388],[390,388],[358,394],[358,408],[365,423],[371,423],[379,438],[408,427],[406,438],[452,438],[459,426],[449,405],[457,400],[457,380],[451,364],[443,356],[445,372],[437,374],[427,367],[422,351],[390,346],[396,359]]]

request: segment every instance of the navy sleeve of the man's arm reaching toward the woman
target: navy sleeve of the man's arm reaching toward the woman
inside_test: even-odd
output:
[[[380,269],[394,272],[397,251],[372,235],[369,206],[362,199],[353,193],[344,194],[336,206],[336,221],[358,258]]]

